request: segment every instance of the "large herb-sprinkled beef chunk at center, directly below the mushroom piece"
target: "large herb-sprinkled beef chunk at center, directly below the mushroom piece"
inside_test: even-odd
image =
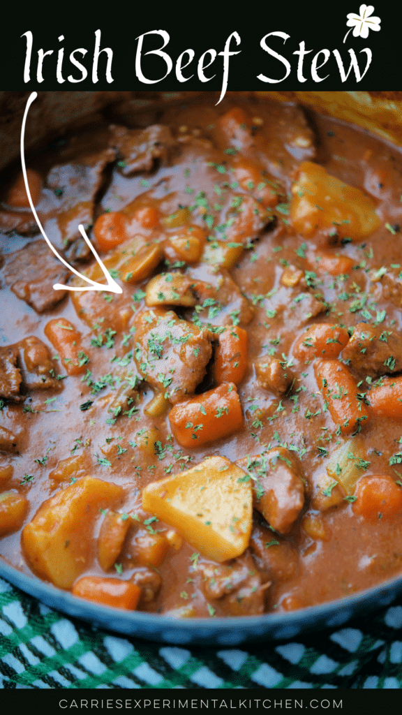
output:
[[[210,332],[161,308],[139,313],[134,325],[134,358],[149,385],[173,404],[192,395],[212,355]]]

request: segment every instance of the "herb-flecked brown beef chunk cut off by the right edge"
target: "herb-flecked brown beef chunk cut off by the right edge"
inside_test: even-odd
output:
[[[359,322],[342,358],[359,375],[378,378],[402,370],[402,335],[396,330]]]

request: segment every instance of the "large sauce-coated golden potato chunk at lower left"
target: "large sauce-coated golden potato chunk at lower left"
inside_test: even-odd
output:
[[[117,485],[84,477],[45,501],[22,532],[34,571],[59,588],[71,588],[92,556],[99,508],[114,506],[121,497]]]

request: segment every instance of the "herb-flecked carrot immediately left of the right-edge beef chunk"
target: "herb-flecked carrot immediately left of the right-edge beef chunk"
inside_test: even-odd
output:
[[[348,340],[349,334],[345,327],[317,322],[298,337],[292,352],[298,360],[338,358]]]

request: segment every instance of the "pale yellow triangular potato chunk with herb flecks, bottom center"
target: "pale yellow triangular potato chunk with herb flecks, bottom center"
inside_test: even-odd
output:
[[[201,464],[142,492],[142,507],[165,521],[202,556],[221,563],[240,556],[250,540],[253,498],[245,473],[223,457]]]

